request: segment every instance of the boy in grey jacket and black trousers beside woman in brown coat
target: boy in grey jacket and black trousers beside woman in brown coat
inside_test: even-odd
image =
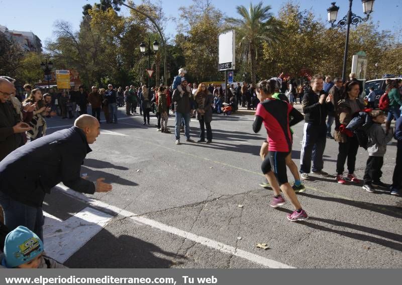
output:
[[[388,134],[382,129],[381,124],[385,123],[385,115],[381,110],[373,110],[370,112],[373,120],[371,127],[368,129],[368,159],[366,170],[364,171],[363,189],[367,192],[374,193],[374,187],[386,188],[388,185],[381,182],[381,167],[384,162],[386,152],[386,144],[391,141],[391,130]]]

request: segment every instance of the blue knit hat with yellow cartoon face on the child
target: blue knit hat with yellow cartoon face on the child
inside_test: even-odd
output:
[[[6,236],[4,255],[9,268],[27,263],[42,252],[41,239],[26,227],[19,226]]]

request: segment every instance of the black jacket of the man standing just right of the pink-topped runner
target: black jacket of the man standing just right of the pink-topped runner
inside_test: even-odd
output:
[[[324,90],[321,90],[320,96],[325,94]],[[303,113],[305,113],[305,122],[313,125],[325,125],[328,112],[334,111],[334,105],[332,103],[320,104],[320,96],[318,96],[310,88],[305,92],[303,97],[302,106]]]

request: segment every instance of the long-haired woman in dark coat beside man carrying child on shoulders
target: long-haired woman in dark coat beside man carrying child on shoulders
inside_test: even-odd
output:
[[[194,100],[196,103],[196,118],[199,122],[199,140],[197,142],[206,142],[205,129],[207,129],[207,143],[212,143],[211,121],[214,96],[204,83],[200,83],[195,92]]]

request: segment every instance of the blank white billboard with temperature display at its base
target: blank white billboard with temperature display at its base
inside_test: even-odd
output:
[[[219,71],[235,70],[236,34],[234,30],[219,34]]]

